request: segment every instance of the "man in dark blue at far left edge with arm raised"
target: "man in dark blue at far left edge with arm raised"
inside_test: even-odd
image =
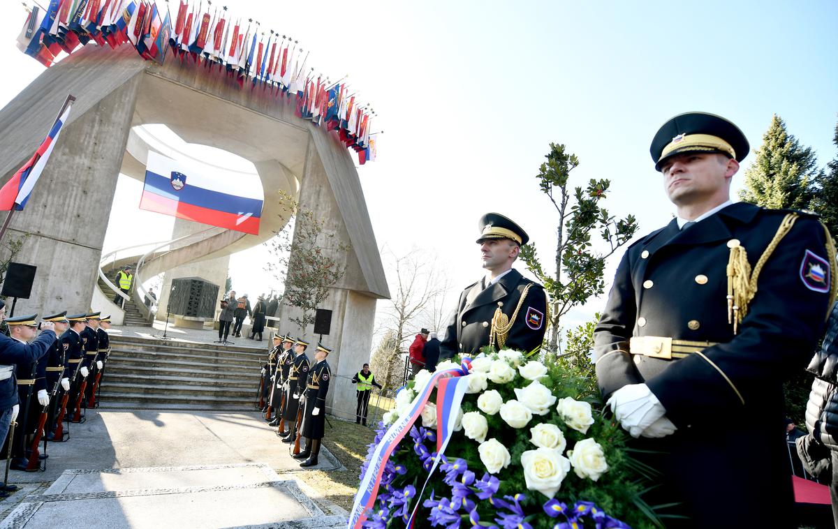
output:
[[[31,366],[44,357],[49,346],[55,341],[54,325],[47,321],[41,326],[38,338],[28,343],[37,333],[35,323],[37,314],[18,316],[7,321],[9,335],[0,335],[0,438],[6,439],[10,424],[16,424],[20,405],[18,404],[18,384],[14,377],[14,366]],[[31,371],[30,371],[31,372]],[[15,485],[0,484],[0,498],[8,492],[17,490]]]

